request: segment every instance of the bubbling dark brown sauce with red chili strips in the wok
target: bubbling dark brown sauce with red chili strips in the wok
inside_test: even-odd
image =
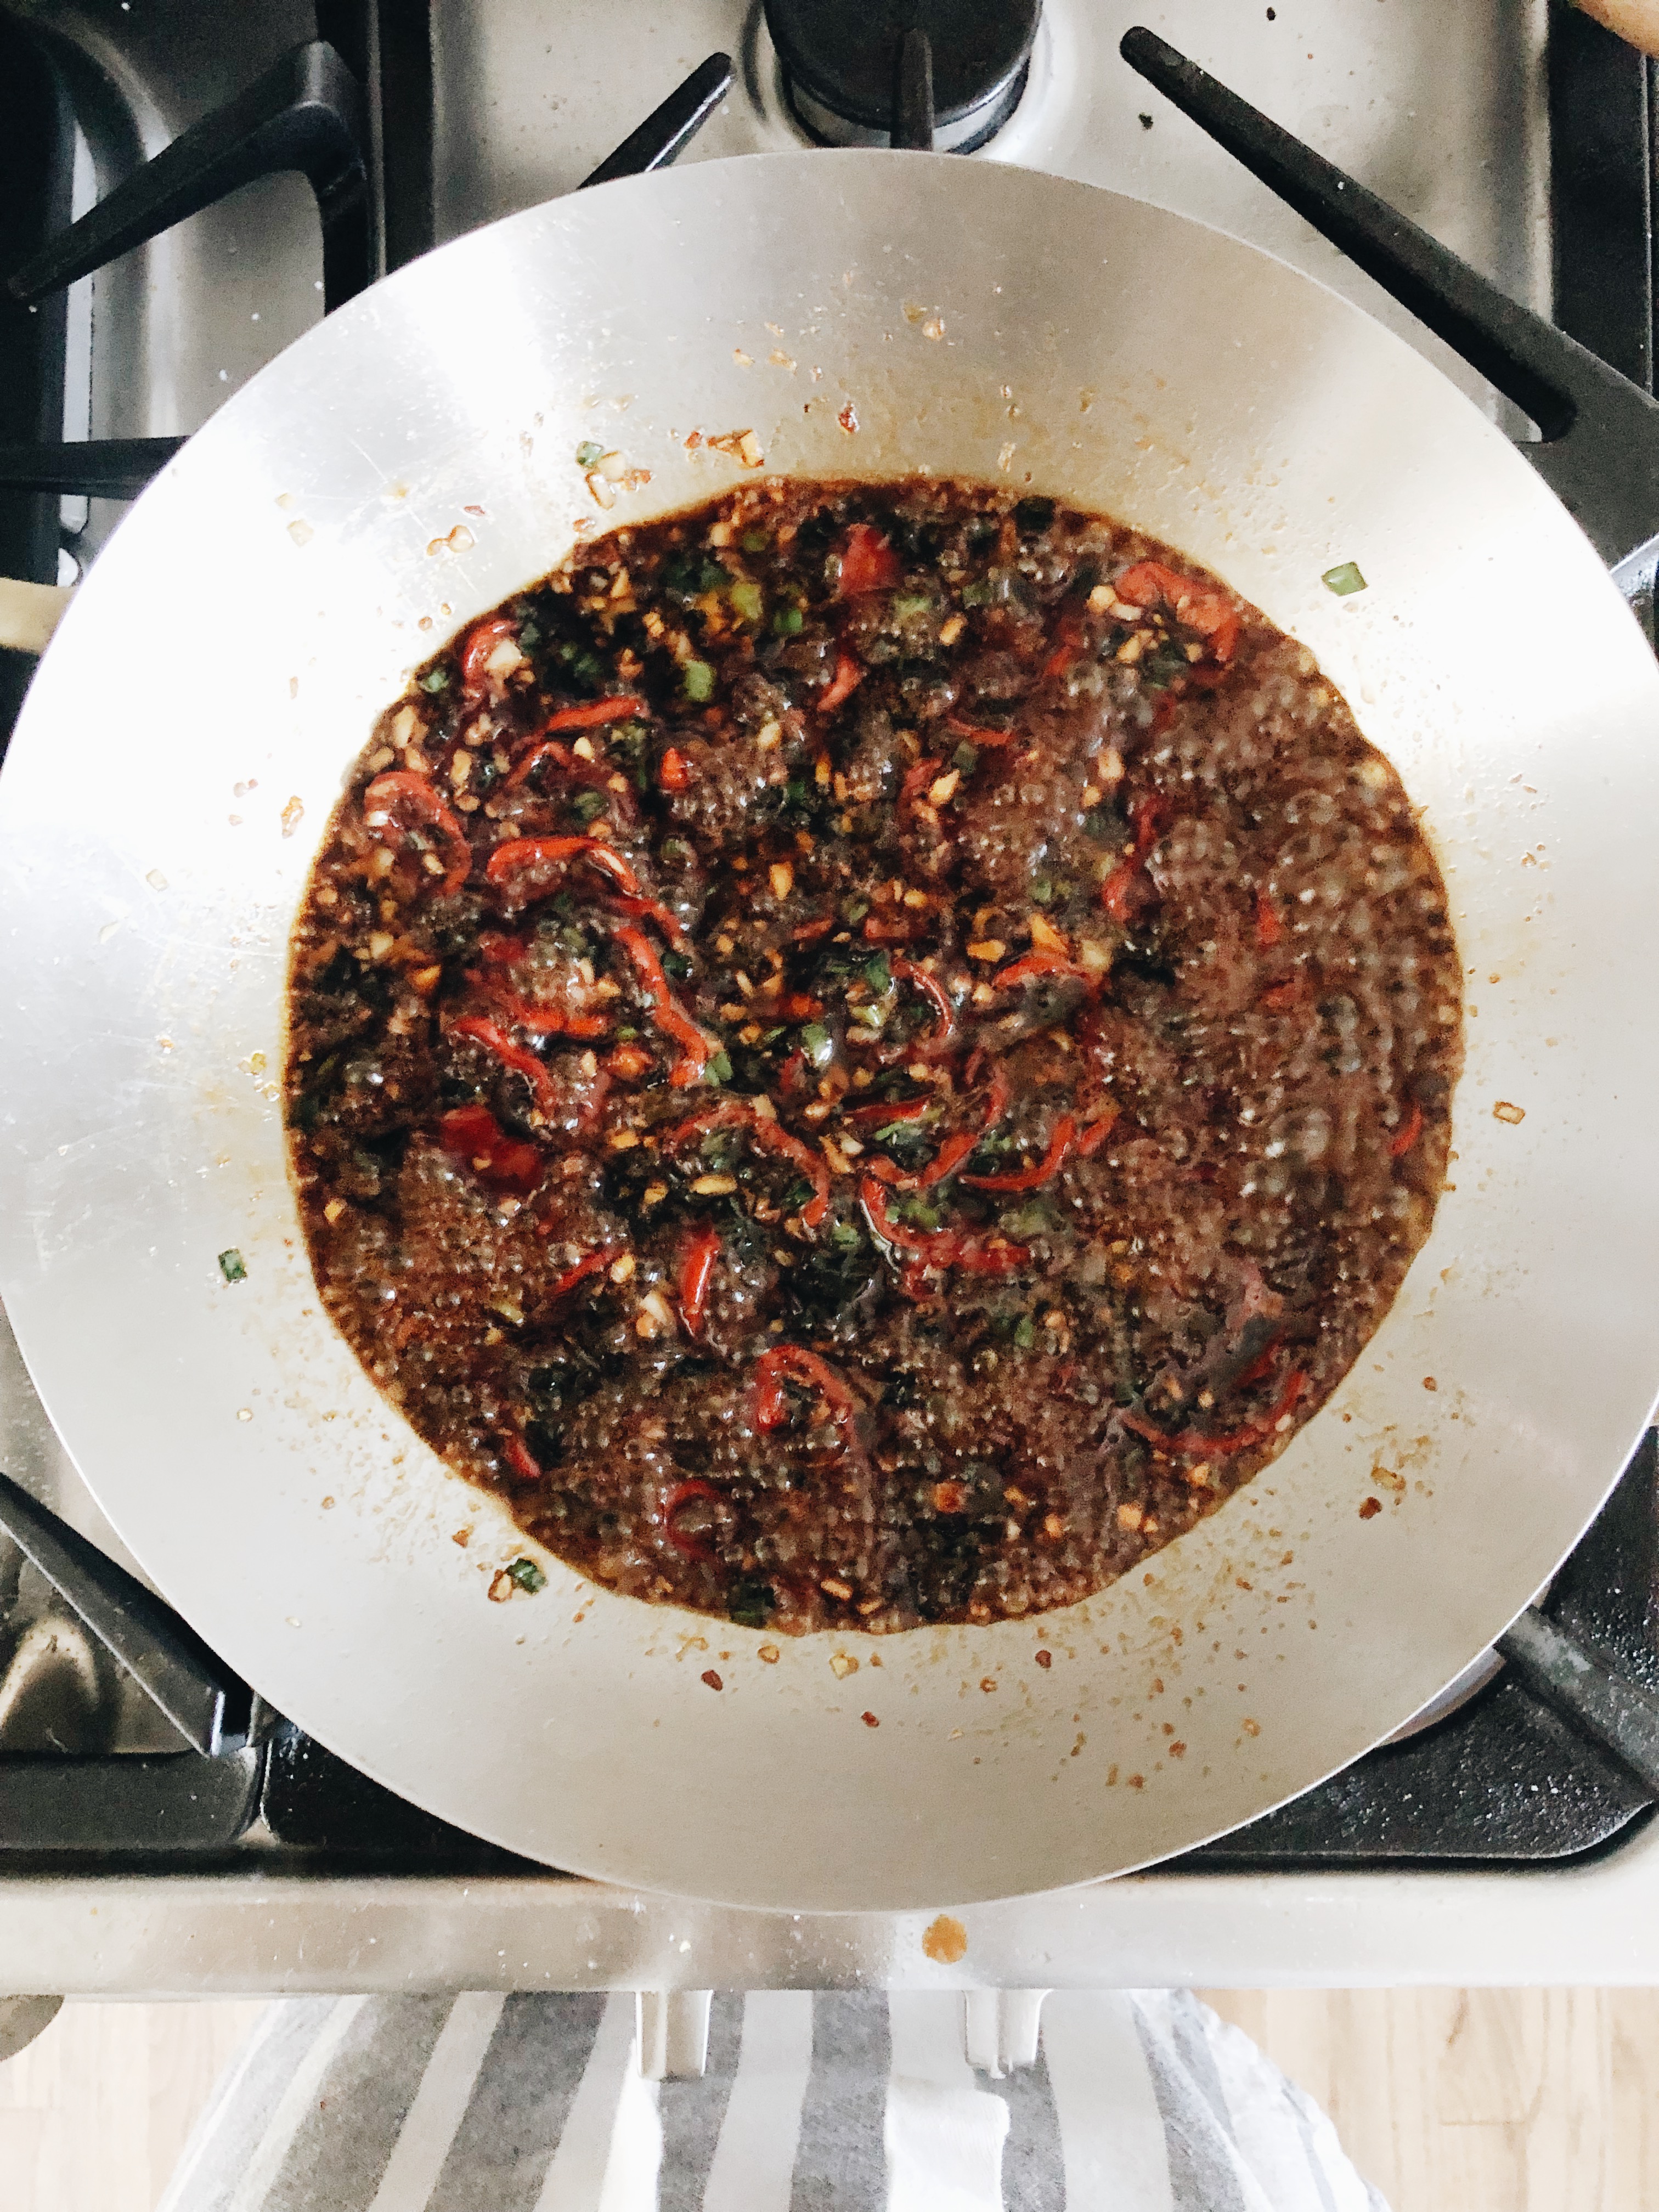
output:
[[[582,1573],[993,1621],[1329,1396],[1460,1020],[1400,779],[1252,606],[1048,500],[765,482],[383,714],[294,927],[292,1166],[374,1383]]]

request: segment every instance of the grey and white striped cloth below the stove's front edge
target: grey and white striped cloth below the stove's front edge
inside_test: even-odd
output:
[[[951,1991],[717,1995],[646,2081],[633,1995],[292,1997],[157,2212],[1387,2212],[1188,1991],[1053,1991],[1035,2066]]]

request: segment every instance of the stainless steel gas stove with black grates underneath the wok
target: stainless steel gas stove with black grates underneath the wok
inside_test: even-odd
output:
[[[208,0],[0,0],[18,124],[0,146],[4,248],[29,292],[0,305],[0,573],[73,582],[179,436],[427,248],[602,175],[812,144],[931,142],[1225,228],[1356,299],[1528,436],[1513,400],[1119,58],[1133,22],[1652,389],[1648,64],[1546,0],[272,0],[234,31]],[[2,659],[9,728],[27,666]],[[951,1980],[909,1916],[774,1924],[622,1898],[336,1761],[146,1613],[2,1327],[0,1469],[86,1540],[58,1584],[95,1624],[0,1535],[0,1989]],[[1657,1604],[1648,1436],[1548,1613],[1659,1688]],[[1639,1882],[1659,1880],[1648,1814],[1650,1792],[1493,1659],[1402,1741],[1172,1867],[978,1916],[973,1971],[1502,1980],[1458,1947],[1502,1924],[1515,1882],[1573,1880],[1604,1951],[1582,1944],[1571,1978],[1652,1980],[1628,1942]],[[1259,1938],[1239,1938],[1228,1896],[1261,1905]],[[1332,1909],[1349,1924],[1360,1896],[1369,1936],[1332,1944]],[[1294,1971],[1298,1944],[1316,1971]],[[1548,1978],[1535,1955],[1515,1964]]]

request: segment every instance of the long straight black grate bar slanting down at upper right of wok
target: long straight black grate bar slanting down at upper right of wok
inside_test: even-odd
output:
[[[1537,422],[1544,445],[1522,451],[1610,566],[1652,538],[1659,515],[1659,405],[1646,392],[1544,316],[1517,305],[1480,270],[1152,31],[1126,31],[1119,51],[1130,69]]]

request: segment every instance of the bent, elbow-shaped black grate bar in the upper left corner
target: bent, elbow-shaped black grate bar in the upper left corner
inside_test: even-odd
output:
[[[303,170],[316,192],[323,303],[338,307],[374,279],[374,228],[363,88],[321,38],[294,46],[246,93],[117,184],[24,261],[9,292],[24,305],[49,299],[254,177],[290,168]]]

